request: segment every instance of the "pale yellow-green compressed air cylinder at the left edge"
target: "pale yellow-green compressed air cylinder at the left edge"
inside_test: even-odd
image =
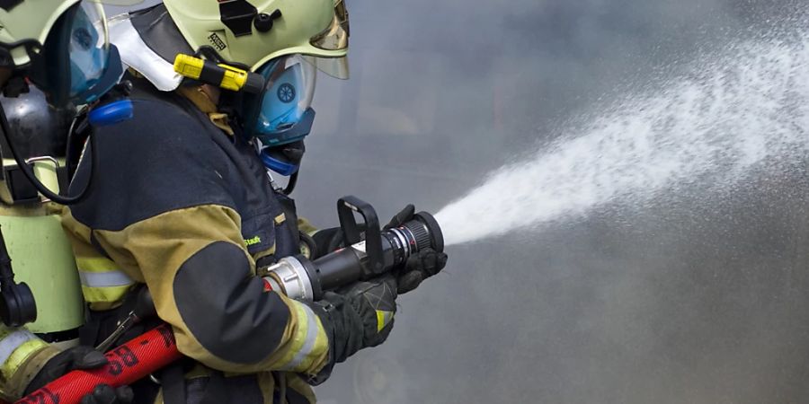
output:
[[[52,164],[37,163],[35,173],[49,189],[58,189]],[[5,188],[3,182],[0,188]],[[70,345],[84,323],[84,299],[59,209],[52,203],[0,204],[0,229],[14,279],[31,287],[37,303],[37,321],[26,329]]]

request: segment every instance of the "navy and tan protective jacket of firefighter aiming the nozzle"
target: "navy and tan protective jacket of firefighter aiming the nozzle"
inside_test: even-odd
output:
[[[305,381],[328,362],[323,325],[256,277],[298,253],[294,208],[253,145],[192,99],[137,83],[136,118],[97,130],[99,161],[79,164],[73,186],[94,171],[91,188],[63,225],[91,309],[84,343],[106,338],[145,284],[190,358],[184,400],[314,402]],[[156,383],[139,384],[138,402],[162,402]]]

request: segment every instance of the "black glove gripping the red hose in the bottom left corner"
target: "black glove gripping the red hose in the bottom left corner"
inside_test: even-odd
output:
[[[96,369],[109,361],[101,352],[92,347],[71,347],[52,357],[42,366],[40,373],[34,376],[25,389],[24,395],[40,390],[49,382],[62,377],[74,370]],[[109,393],[112,394],[109,394]],[[95,387],[92,393],[84,396],[82,404],[128,404],[132,402],[133,393],[128,386],[122,386],[114,391],[106,384]]]

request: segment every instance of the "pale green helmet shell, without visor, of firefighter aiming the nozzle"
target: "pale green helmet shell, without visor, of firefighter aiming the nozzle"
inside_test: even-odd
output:
[[[249,33],[240,35],[223,22],[220,4],[244,3],[255,7],[257,14],[272,15],[280,11],[269,31],[260,31],[249,22]],[[312,40],[327,30],[335,18],[334,0],[164,0],[172,20],[191,48],[211,46],[227,60],[251,66],[256,70],[267,61],[284,55],[302,54],[312,57],[345,57],[348,48],[324,49]],[[241,4],[240,4],[241,5]],[[277,14],[277,13],[276,13]],[[244,24],[243,24],[244,25]],[[247,26],[244,26],[247,29]]]

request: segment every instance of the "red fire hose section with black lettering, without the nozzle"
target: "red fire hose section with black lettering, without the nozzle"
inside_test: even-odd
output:
[[[182,357],[172,329],[165,324],[112,349],[105,356],[109,364],[91,371],[67,373],[15,404],[79,404],[99,384],[118,387],[137,382]]]

